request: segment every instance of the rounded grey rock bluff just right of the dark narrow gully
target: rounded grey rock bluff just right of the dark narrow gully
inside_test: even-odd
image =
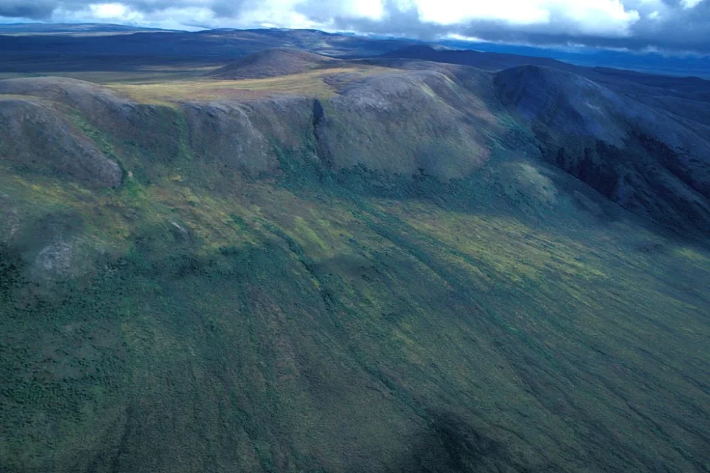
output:
[[[324,102],[315,130],[334,169],[464,177],[488,159],[486,137],[437,93],[444,74],[408,72],[354,82]]]

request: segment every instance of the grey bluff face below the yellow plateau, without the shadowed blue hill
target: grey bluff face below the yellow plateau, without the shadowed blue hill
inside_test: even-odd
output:
[[[173,160],[185,152],[197,160],[222,162],[251,174],[274,172],[278,149],[306,153],[317,148],[324,165],[333,169],[362,165],[386,174],[427,172],[443,179],[461,179],[486,160],[486,135],[500,128],[493,116],[476,123],[485,128],[473,126],[475,117],[469,110],[459,110],[460,105],[447,102],[447,94],[465,99],[470,92],[437,72],[400,72],[359,79],[326,99],[292,96],[186,102],[171,108],[141,105],[107,89],[67,79],[6,81],[0,83],[0,93],[20,96],[5,105],[4,115],[9,121],[26,120],[28,116],[34,121],[50,116],[66,123],[85,121],[83,129],[48,130],[65,140],[83,140],[88,146],[95,131],[118,153],[127,152],[122,148],[131,143],[136,152],[140,150],[156,160]],[[54,113],[40,116],[45,109],[36,105],[38,100],[54,104]],[[18,104],[35,106],[36,110],[10,108]],[[479,108],[481,113],[488,113],[486,104]],[[15,118],[12,113],[16,113]],[[10,127],[9,133],[20,133],[15,130]],[[62,159],[74,162],[77,169],[70,177],[87,181],[94,176],[89,167],[96,163],[82,160],[79,148],[67,148],[65,158],[60,158],[32,148],[48,140],[33,140],[27,135],[8,141],[42,156],[46,163],[59,165]],[[19,156],[17,159],[22,160]],[[100,160],[99,153],[94,161]],[[86,176],[77,174],[80,168],[86,170]],[[94,184],[105,182],[97,177]]]

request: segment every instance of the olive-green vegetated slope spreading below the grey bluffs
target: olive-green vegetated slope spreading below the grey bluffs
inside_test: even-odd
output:
[[[118,187],[0,159],[1,471],[710,471],[703,241],[502,145],[254,174],[139,107],[67,112]]]

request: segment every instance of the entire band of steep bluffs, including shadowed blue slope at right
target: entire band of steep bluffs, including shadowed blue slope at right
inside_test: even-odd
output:
[[[710,144],[701,123],[569,72],[422,64],[370,77],[329,74],[334,93],[325,97],[170,107],[70,79],[4,81],[0,92],[12,97],[0,104],[4,152],[16,166],[98,187],[120,184],[121,154],[146,172],[184,155],[266,176],[288,153],[333,172],[363,167],[446,181],[469,177],[492,148],[525,142],[630,211],[710,228]]]

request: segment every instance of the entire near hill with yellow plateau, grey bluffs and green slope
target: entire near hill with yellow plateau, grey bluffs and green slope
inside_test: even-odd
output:
[[[0,470],[710,468],[706,82],[229,62],[0,80]]]

